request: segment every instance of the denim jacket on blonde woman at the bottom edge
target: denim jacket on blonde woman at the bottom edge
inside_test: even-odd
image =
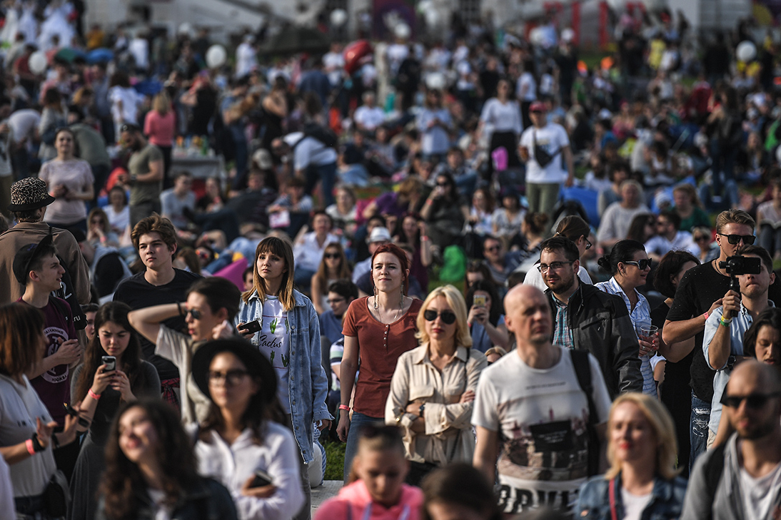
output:
[[[578,501],[574,510],[575,518],[588,520],[611,520],[610,481],[604,475],[587,480],[580,487]],[[653,497],[640,515],[640,520],[674,520],[680,517],[683,497],[686,495],[686,480],[679,477],[672,480],[654,477]],[[624,518],[624,506],[621,498],[621,474],[615,477],[615,513],[616,518]]]

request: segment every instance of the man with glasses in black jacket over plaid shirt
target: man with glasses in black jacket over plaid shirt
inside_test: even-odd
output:
[[[555,316],[553,343],[594,355],[612,398],[642,391],[640,346],[624,301],[580,283],[580,255],[572,240],[552,237],[540,248],[538,269]]]

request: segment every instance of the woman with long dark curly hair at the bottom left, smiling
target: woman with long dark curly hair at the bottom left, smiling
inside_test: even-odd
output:
[[[177,412],[160,399],[124,403],[109,430],[96,520],[237,520],[224,486],[198,475]]]

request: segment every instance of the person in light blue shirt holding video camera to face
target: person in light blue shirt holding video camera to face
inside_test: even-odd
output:
[[[759,246],[747,245],[738,249],[737,255],[740,256],[730,262],[729,271],[739,280],[740,293],[730,288],[722,297],[722,306],[715,308],[705,322],[702,351],[708,366],[716,371],[708,422],[708,448],[719,431],[722,393],[729,375],[737,363],[747,358],[743,350],[744,333],[760,312],[775,306],[768,300],[768,288],[776,279],[769,252]]]

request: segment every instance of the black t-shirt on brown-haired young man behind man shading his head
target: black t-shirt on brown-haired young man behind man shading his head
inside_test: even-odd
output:
[[[114,301],[123,301],[127,305],[130,305],[130,308],[133,310],[152,307],[152,305],[184,301],[184,295],[187,294],[187,289],[190,288],[195,280],[199,280],[201,276],[180,269],[173,270],[175,271],[173,280],[166,283],[166,285],[159,286],[152,285],[152,283],[146,281],[144,272],[139,272],[134,276],[130,276],[127,280],[119,283],[119,287],[116,288],[116,292],[114,293]],[[162,323],[169,329],[178,330],[180,332],[186,327],[184,316],[166,319]],[[155,365],[155,369],[157,369],[161,381],[179,377],[179,370],[176,365],[169,362],[167,359],[155,355],[155,344],[144,337],[140,337],[140,340],[141,350],[144,351],[144,358],[152,363],[152,365]]]

